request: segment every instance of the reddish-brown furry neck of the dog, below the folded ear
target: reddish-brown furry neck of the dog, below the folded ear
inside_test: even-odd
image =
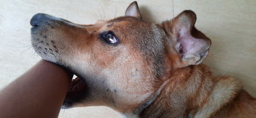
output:
[[[204,73],[204,74],[202,74]],[[212,92],[211,73],[203,65],[188,66],[174,71],[159,87],[158,96],[140,112],[141,118],[183,118],[194,115]]]

